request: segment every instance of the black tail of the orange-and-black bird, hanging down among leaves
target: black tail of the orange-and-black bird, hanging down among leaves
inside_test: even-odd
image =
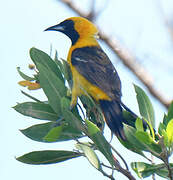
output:
[[[100,100],[100,107],[105,117],[105,121],[111,131],[122,140],[126,140],[123,131],[123,114],[122,107],[119,102]]]

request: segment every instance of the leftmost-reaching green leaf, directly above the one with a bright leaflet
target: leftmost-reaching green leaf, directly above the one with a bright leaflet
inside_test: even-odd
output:
[[[25,102],[17,104],[14,109],[17,112],[32,118],[51,121],[56,121],[58,119],[58,115],[54,112],[49,104]]]

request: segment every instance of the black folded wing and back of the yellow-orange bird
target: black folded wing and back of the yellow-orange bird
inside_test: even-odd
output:
[[[108,56],[100,47],[77,48],[71,63],[90,83],[103,90],[111,99],[120,101],[121,82]]]

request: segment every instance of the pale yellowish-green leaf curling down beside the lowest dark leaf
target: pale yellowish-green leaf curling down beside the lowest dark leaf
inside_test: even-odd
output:
[[[91,163],[92,166],[94,166],[96,169],[101,170],[101,164],[100,161],[94,152],[94,150],[89,147],[87,144],[76,144],[76,148],[83,151],[85,156],[87,157],[88,161]]]

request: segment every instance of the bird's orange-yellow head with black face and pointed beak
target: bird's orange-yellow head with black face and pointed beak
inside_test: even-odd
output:
[[[45,31],[60,31],[66,34],[74,45],[77,40],[86,38],[95,38],[98,33],[96,26],[82,17],[71,17],[63,22],[47,28]]]

